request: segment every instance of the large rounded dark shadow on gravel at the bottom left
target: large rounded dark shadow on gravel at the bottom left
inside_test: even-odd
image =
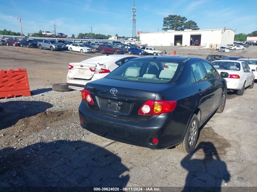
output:
[[[29,187],[33,191],[40,187],[44,191],[48,190],[43,187],[49,191],[82,191],[81,187],[96,186],[122,189],[129,180],[120,157],[84,141],[40,142],[19,150],[6,147],[0,150],[0,157],[0,184],[6,191],[19,187],[19,191]]]

